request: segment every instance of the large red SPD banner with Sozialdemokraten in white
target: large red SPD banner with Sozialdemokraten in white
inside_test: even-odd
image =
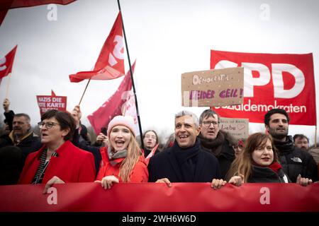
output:
[[[263,123],[272,108],[289,112],[290,124],[316,125],[313,54],[252,54],[211,50],[211,69],[244,68],[244,103],[214,107],[222,117]]]

